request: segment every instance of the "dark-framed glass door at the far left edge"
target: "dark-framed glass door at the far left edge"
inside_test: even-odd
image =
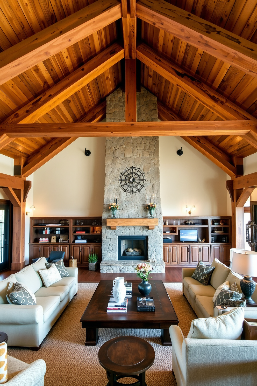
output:
[[[0,204],[0,271],[9,266],[9,205]]]

